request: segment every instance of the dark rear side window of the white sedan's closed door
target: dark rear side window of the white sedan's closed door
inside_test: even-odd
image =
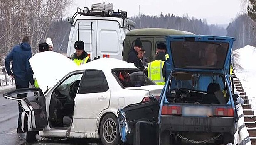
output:
[[[108,89],[108,83],[102,71],[87,70],[82,78],[78,94],[100,93]]]

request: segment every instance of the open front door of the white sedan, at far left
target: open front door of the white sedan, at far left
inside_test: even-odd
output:
[[[27,97],[17,97],[17,95],[20,94]],[[44,127],[48,125],[45,97],[41,89],[16,89],[3,94],[3,97],[18,101],[19,105],[22,107],[23,112],[21,120],[23,131],[25,131],[26,126],[28,127],[28,131],[42,131]]]

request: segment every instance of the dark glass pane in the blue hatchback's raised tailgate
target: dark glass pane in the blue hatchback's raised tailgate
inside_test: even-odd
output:
[[[222,69],[229,44],[221,42],[170,43],[175,68]]]

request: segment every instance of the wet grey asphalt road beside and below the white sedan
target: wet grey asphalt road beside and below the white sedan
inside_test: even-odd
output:
[[[5,99],[2,96],[12,89],[0,91],[0,145],[100,145],[99,140],[46,139],[39,135],[36,143],[26,143],[25,133],[17,133],[19,114],[17,101]]]

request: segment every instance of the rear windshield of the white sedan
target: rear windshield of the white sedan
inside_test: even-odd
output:
[[[112,73],[122,87],[156,85],[156,83],[150,80],[144,72],[141,72],[138,69],[115,69],[112,70]]]

